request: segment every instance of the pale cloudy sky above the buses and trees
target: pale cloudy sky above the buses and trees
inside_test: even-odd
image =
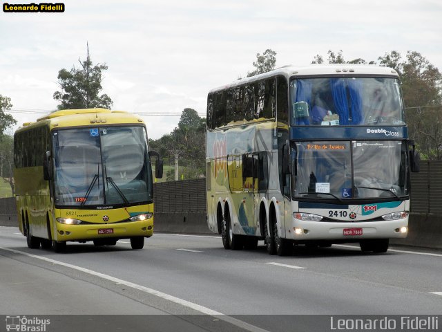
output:
[[[0,94],[19,123],[57,108],[58,71],[79,67],[86,42],[93,63],[108,65],[102,92],[113,109],[164,114],[144,117],[154,139],[176,127],[180,117],[168,114],[191,107],[204,116],[207,92],[244,77],[267,48],[277,66],[327,59],[328,50],[367,62],[416,50],[442,71],[440,0],[64,3],[64,13],[0,12]]]

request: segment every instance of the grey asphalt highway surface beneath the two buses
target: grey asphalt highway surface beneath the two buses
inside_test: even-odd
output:
[[[131,250],[129,241],[68,243],[57,254],[30,250],[17,228],[0,227],[0,295],[0,315],[69,315],[64,320],[76,317],[68,326],[77,331],[86,320],[106,331],[140,331],[140,324],[148,331],[320,331],[314,326],[329,328],[334,316],[441,315],[442,252],[299,246],[278,257],[261,242],[232,251],[216,236],[155,234],[144,250]]]

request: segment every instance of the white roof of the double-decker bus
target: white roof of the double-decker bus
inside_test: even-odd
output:
[[[215,89],[209,91],[209,93],[220,91],[223,89],[240,86],[250,82],[263,80],[269,77],[283,75],[289,79],[290,77],[304,77],[304,76],[354,76],[354,75],[378,75],[378,76],[390,76],[399,78],[398,73],[388,67],[376,66],[373,64],[311,64],[309,66],[282,66],[273,71],[255,75],[251,77],[245,77],[241,80],[231,82],[224,86],[218,86]]]

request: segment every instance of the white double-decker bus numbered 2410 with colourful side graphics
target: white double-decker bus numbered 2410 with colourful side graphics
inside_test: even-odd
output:
[[[392,68],[286,66],[209,92],[208,225],[226,249],[386,252],[407,236],[418,170]]]

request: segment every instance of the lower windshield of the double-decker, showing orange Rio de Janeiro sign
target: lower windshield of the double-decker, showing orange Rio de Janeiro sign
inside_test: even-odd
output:
[[[409,194],[403,141],[297,142],[291,156],[294,199],[397,200]]]

